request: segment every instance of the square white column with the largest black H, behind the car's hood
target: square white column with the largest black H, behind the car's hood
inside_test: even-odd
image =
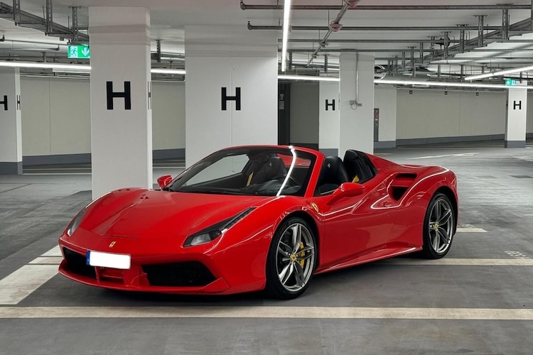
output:
[[[152,187],[150,13],[90,7],[92,196]]]

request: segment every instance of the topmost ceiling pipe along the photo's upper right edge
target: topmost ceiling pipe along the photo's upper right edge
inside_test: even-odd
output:
[[[242,10],[283,10],[280,5],[247,5],[240,3]],[[293,5],[292,10],[340,10],[340,5]],[[361,5],[357,10],[530,10],[531,5],[496,4],[496,5]]]

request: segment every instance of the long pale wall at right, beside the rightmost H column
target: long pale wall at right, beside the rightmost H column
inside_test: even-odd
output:
[[[397,90],[397,139],[505,132],[506,92]]]

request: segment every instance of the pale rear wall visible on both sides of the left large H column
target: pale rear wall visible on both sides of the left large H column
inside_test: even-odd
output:
[[[22,153],[91,152],[89,80],[21,77]],[[154,150],[185,148],[185,85],[154,82]]]

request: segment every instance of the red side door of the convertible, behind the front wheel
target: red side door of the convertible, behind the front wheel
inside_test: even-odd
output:
[[[379,204],[388,197],[378,177],[365,182],[365,192],[328,204],[331,197],[315,197],[324,222],[323,264],[348,261],[387,244],[392,229],[389,208]]]

